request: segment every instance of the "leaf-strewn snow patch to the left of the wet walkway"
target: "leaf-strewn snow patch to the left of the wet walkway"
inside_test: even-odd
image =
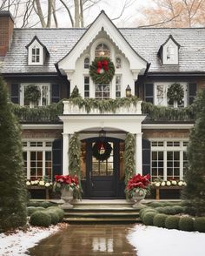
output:
[[[57,232],[61,226],[50,226],[48,228],[31,226],[26,232],[17,230],[15,233],[0,233],[0,255],[17,256],[28,255],[27,249],[36,246],[36,244]]]

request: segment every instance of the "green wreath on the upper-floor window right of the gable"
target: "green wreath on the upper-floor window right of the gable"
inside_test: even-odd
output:
[[[171,84],[168,88],[167,96],[169,98],[169,104],[174,104],[176,101],[178,104],[182,104],[184,98],[184,91],[181,84]]]

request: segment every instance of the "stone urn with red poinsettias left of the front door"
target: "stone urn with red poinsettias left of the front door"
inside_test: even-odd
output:
[[[81,199],[81,189],[76,176],[56,175],[53,189],[54,191],[61,192],[61,199],[64,201],[62,205],[63,209],[73,208],[70,202],[74,198]]]

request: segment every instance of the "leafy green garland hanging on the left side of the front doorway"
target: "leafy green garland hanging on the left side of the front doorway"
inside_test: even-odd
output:
[[[81,185],[81,142],[76,132],[69,139],[69,174],[76,175],[79,181],[80,191],[74,195],[75,199],[81,199],[82,185]]]

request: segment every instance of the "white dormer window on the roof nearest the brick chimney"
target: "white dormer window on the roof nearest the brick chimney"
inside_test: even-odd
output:
[[[29,65],[43,65],[45,58],[49,56],[49,51],[36,36],[26,48],[28,49]]]

